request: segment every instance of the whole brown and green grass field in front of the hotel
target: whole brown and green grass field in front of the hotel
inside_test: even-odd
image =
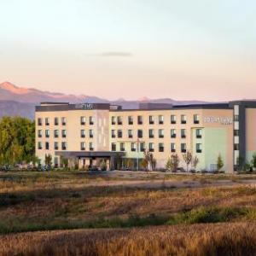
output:
[[[0,173],[0,255],[254,255],[253,178]]]

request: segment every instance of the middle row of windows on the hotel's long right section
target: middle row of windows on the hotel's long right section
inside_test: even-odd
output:
[[[129,138],[133,138],[134,137],[133,130],[128,130],[127,136]],[[180,130],[180,136],[182,138],[187,137],[186,129],[181,129]],[[196,138],[201,138],[202,137],[201,129],[196,129],[195,130],[195,136],[196,136]],[[122,138],[123,137],[123,131],[122,130],[111,130],[111,137],[112,138],[115,138],[115,137]],[[137,130],[137,137],[138,138],[143,138],[143,130]],[[149,138],[154,138],[154,129],[149,129],[148,130],[148,137]],[[164,138],[165,137],[165,132],[164,132],[163,129],[158,130],[158,137],[159,138]],[[171,137],[172,138],[177,137],[177,130],[176,129],[171,129]]]

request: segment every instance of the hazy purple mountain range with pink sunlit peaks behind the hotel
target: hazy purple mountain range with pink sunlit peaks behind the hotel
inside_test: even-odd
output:
[[[29,119],[33,119],[34,107],[40,102],[109,102],[111,104],[121,105],[123,108],[127,109],[138,108],[139,103],[141,102],[169,103],[173,105],[207,103],[201,101],[175,101],[170,98],[148,99],[146,97],[138,99],[137,101],[126,101],[125,99],[108,101],[107,99],[102,99],[96,96],[76,96],[58,92],[37,90],[34,88],[24,88],[16,86],[15,84],[9,82],[3,82],[2,84],[0,84],[0,118],[4,115],[20,115]]]

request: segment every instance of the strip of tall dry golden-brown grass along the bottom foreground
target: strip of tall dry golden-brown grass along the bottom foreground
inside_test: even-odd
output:
[[[195,224],[125,230],[63,230],[0,237],[10,255],[256,255],[255,224]]]

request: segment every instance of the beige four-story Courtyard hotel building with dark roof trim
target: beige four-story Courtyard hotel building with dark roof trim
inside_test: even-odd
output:
[[[156,169],[165,168],[171,154],[184,167],[183,154],[199,159],[197,170],[213,171],[221,155],[224,172],[233,172],[237,160],[251,160],[256,152],[256,102],[172,106],[143,103],[122,109],[108,103],[43,102],[36,107],[36,154],[44,165],[50,154],[55,166],[66,158],[70,166],[108,169],[131,167],[154,155]],[[121,165],[117,165],[121,161]]]

